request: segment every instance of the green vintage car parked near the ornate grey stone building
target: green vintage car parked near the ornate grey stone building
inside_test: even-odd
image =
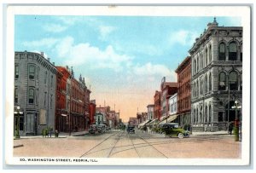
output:
[[[176,123],[166,123],[162,126],[162,131],[166,136],[177,136],[178,138],[189,137],[189,131],[179,128]]]

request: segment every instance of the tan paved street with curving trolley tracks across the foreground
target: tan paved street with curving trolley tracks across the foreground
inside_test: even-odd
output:
[[[241,142],[234,136],[212,135],[178,139],[161,134],[110,131],[101,135],[15,140],[14,156],[76,158],[208,158],[239,159]]]

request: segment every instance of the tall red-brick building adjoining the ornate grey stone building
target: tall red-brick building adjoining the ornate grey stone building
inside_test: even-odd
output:
[[[188,56],[177,66],[177,123],[181,126],[191,122],[191,57]]]

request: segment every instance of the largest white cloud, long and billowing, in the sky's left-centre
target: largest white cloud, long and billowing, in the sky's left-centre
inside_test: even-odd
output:
[[[73,37],[65,37],[55,47],[57,55],[70,66],[90,66],[90,68],[109,68],[115,72],[123,69],[131,61],[129,55],[117,54],[111,45],[106,49],[93,47],[90,43],[75,44]]]

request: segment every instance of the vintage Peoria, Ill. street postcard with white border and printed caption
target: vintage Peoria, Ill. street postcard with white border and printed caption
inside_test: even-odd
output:
[[[9,5],[9,165],[248,165],[250,6]]]

